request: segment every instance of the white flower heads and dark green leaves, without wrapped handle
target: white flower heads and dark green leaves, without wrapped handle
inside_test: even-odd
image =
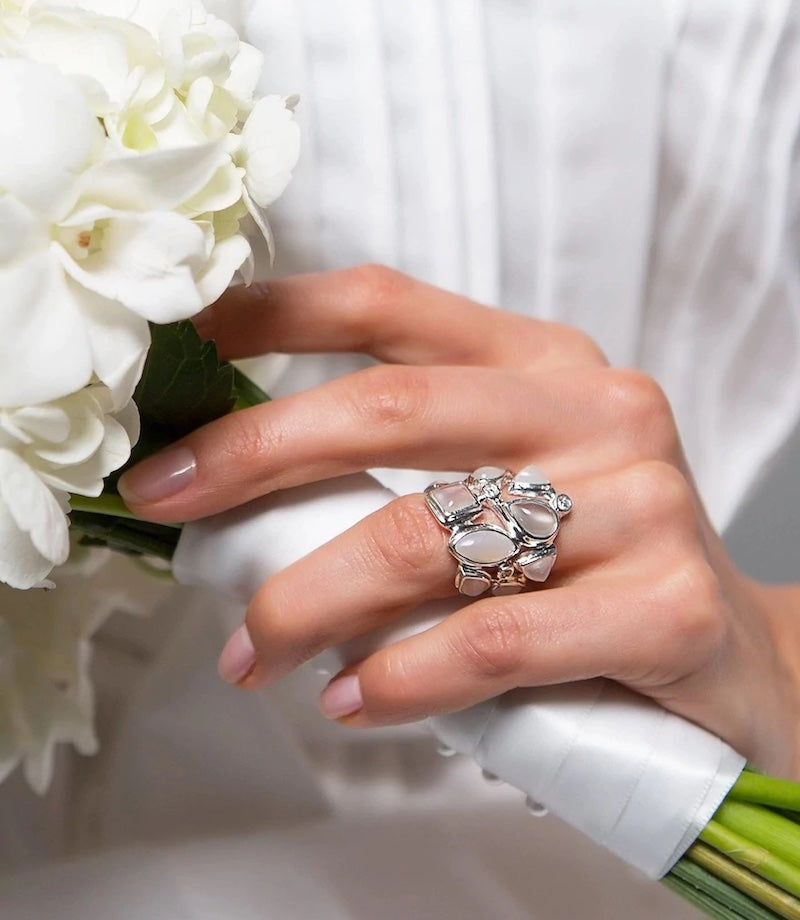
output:
[[[0,779],[24,761],[41,790],[56,742],[94,749],[112,606],[12,589],[52,587],[70,524],[169,556],[115,472],[254,398],[186,320],[249,282],[249,232],[272,251],[299,131],[293,100],[256,98],[261,65],[197,0],[0,0]]]

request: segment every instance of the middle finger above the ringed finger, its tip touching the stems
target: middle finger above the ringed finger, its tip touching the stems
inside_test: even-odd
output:
[[[144,460],[119,489],[139,517],[191,521],[381,466],[524,466],[535,455],[571,477],[659,456],[646,431],[622,424],[612,374],[381,365],[224,416]]]

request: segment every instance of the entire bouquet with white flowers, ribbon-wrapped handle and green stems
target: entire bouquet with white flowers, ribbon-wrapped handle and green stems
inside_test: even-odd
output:
[[[292,99],[256,99],[260,69],[199,0],[0,0],[0,779],[24,761],[42,790],[57,742],[96,746],[102,613],[63,591],[10,601],[53,587],[70,530],[246,599],[394,497],[354,477],[182,533],[116,492],[132,460],[266,399],[187,322],[251,280],[248,225],[272,252],[264,209],[299,138]],[[697,726],[586,681],[431,727],[712,916],[800,918],[798,786],[739,778],[743,759]]]

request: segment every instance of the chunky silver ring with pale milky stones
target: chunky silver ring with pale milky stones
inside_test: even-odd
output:
[[[456,588],[467,597],[517,594],[543,582],[556,561],[555,540],[572,499],[538,467],[518,473],[482,466],[460,482],[434,482],[425,501],[450,531]]]

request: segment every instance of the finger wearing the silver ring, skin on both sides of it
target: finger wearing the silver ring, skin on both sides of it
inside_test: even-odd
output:
[[[572,582],[622,556],[629,562],[643,555],[649,544],[640,531],[653,526],[652,513],[637,525],[642,493],[652,478],[644,466],[570,485],[580,517],[566,522],[559,535],[551,585]],[[663,555],[669,552],[670,528],[661,533]],[[326,648],[393,623],[425,601],[454,595],[455,562],[447,539],[421,495],[391,502],[262,586],[246,625],[223,652],[222,676],[231,682],[246,676],[245,686],[263,686]]]

